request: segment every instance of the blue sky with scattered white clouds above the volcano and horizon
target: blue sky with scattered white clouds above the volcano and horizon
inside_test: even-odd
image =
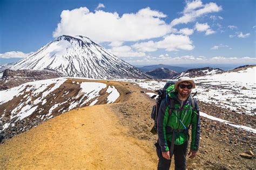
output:
[[[79,34],[133,65],[255,64],[255,2],[0,0],[0,62]]]

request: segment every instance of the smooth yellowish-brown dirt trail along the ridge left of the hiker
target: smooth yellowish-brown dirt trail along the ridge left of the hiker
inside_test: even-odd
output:
[[[107,84],[122,94],[120,103],[72,110],[7,140],[0,145],[0,169],[155,169],[152,141],[133,137],[113,109],[138,101],[125,95],[124,83]]]

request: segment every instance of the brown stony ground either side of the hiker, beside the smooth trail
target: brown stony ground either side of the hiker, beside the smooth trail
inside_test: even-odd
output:
[[[130,127],[130,135],[142,140],[151,140],[154,143],[157,136],[149,131],[153,126],[150,112],[154,100],[140,100],[147,89],[134,90],[130,84],[126,87],[132,89],[131,101],[113,105],[116,109],[120,123]],[[241,115],[218,105],[199,101],[199,108],[208,115],[217,116],[238,124],[255,124],[251,115]],[[221,114],[217,114],[221,112]],[[228,116],[230,115],[230,116]],[[252,126],[252,128],[255,126]],[[188,169],[253,169],[256,159],[245,159],[240,156],[246,151],[256,152],[256,134],[243,129],[235,128],[225,123],[213,121],[201,116],[201,137],[199,153],[195,159],[187,158]],[[152,153],[155,154],[155,153]]]

